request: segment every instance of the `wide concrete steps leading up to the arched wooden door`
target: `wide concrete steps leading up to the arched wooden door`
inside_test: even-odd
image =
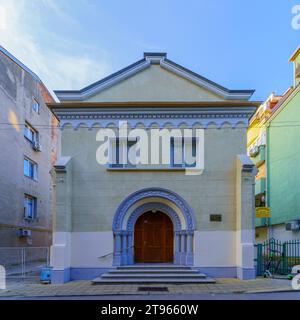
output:
[[[92,283],[215,283],[215,280],[187,266],[131,265],[116,267],[94,279]]]

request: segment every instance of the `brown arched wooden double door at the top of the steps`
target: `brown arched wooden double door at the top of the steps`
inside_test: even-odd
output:
[[[134,227],[135,262],[173,262],[173,239],[173,223],[166,214],[145,212]]]

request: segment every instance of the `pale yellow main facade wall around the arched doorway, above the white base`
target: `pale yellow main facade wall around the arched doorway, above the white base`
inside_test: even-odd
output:
[[[62,132],[62,155],[72,157],[72,231],[111,231],[117,207],[132,192],[147,187],[175,191],[193,208],[198,230],[235,230],[237,154],[246,153],[244,129],[205,130],[202,175],[184,172],[110,172],[96,162],[96,128]],[[222,222],[210,222],[222,214]],[[57,221],[55,231],[66,231]]]

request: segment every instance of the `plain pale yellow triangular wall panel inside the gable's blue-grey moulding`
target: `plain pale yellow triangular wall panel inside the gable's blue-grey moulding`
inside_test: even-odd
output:
[[[158,65],[135,74],[86,101],[220,101],[220,96]]]

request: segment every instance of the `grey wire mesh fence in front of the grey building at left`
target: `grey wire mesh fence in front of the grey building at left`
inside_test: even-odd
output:
[[[0,247],[0,265],[7,278],[38,277],[49,261],[48,247]]]

